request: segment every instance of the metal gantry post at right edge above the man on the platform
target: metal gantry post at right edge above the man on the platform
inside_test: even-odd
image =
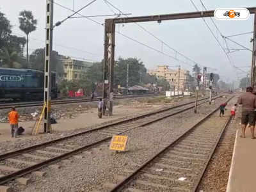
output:
[[[254,87],[255,84],[255,62],[256,62],[256,12],[254,13],[254,23],[253,23],[253,48],[252,48],[252,70],[251,70],[251,86]]]

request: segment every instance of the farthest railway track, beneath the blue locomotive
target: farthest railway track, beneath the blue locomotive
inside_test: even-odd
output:
[[[161,96],[163,93],[160,94],[143,94],[143,95],[124,95],[124,96],[115,96],[114,99],[129,99],[129,98],[138,98],[138,97],[155,97]],[[58,104],[72,104],[72,103],[79,103],[79,102],[92,102],[99,100],[100,97],[96,97],[91,100],[88,97],[83,97],[82,99],[54,99],[52,100],[52,105]],[[12,106],[16,108],[26,108],[26,107],[35,107],[35,106],[42,106],[44,102],[42,101],[33,101],[33,102],[10,102],[10,103],[0,103],[0,109],[9,109]]]

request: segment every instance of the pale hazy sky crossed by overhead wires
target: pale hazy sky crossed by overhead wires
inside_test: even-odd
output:
[[[90,1],[74,0],[75,10],[81,8]],[[199,10],[202,10],[200,0],[193,0]],[[256,6],[255,0],[203,0],[208,10],[214,10],[222,7],[250,7]],[[55,0],[56,3],[73,8],[73,0]],[[156,15],[164,13],[180,13],[180,12],[194,12],[195,8],[189,0],[109,0],[117,8],[120,8],[124,13],[132,13],[132,16],[141,15]],[[24,33],[19,29],[19,12],[22,10],[31,10],[35,19],[38,20],[36,31],[30,35],[29,52],[44,47],[45,38],[45,0],[1,0],[0,11],[6,14],[10,20],[13,28],[12,31],[15,35],[24,36]],[[80,13],[83,15],[105,15],[118,13],[114,8],[109,8],[104,0],[97,0],[92,5],[85,8]],[[61,8],[54,4],[54,23],[58,20],[63,20],[72,12]],[[106,17],[93,18],[100,23],[104,23]],[[214,19],[214,18],[213,18]],[[223,39],[214,28],[211,20],[206,19],[214,34],[218,37],[221,44],[224,46]],[[215,20],[215,19],[214,19]],[[253,31],[253,15],[248,20],[215,20],[223,35],[234,35],[237,33],[246,33]],[[237,80],[246,76],[239,70],[234,70],[231,67],[227,56],[221,50],[220,45],[216,42],[207,29],[202,19],[186,19],[186,20],[168,20],[163,21],[161,24],[157,22],[140,23],[148,31],[163,40],[166,44],[170,45],[177,51],[188,56],[202,66],[216,68],[212,72],[217,72],[221,75],[221,79],[225,81]],[[175,52],[163,46],[161,42],[148,35],[136,24],[122,24],[116,26],[116,31],[120,31],[131,38],[139,40],[140,42],[154,47],[159,51],[175,56]],[[249,35],[233,37],[240,44],[252,49],[250,43],[252,33]],[[54,28],[53,49],[60,54],[72,56],[76,58],[85,58],[87,60],[100,61],[103,56],[104,44],[104,28],[99,24],[88,19],[69,19],[61,26]],[[236,44],[228,41],[228,47],[241,48]],[[147,47],[132,42],[131,40],[116,34],[116,58],[119,56],[123,58],[136,57],[139,58],[145,66],[149,69],[156,68],[157,65],[181,65],[182,68],[191,70],[189,65],[184,65],[178,61],[164,56],[158,52],[152,51]],[[250,51],[237,51],[231,53],[232,61],[237,67],[243,67],[242,70],[248,71],[250,68],[246,66],[251,65],[252,52]],[[180,60],[184,58],[180,57]]]

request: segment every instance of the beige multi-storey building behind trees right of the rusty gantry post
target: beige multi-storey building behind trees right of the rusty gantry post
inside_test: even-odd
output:
[[[178,88],[178,82],[181,91],[189,89],[189,70],[180,69],[179,75],[178,68],[177,70],[173,70],[168,65],[159,65],[156,70],[148,71],[148,74],[154,75],[157,78],[166,79],[170,83],[171,88],[175,88],[176,90]]]

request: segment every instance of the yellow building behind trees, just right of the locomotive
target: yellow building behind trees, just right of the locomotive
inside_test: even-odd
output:
[[[68,81],[81,79],[88,67],[93,65],[91,62],[74,60],[70,57],[62,57],[61,61],[63,63],[64,73],[60,75],[60,78]]]

